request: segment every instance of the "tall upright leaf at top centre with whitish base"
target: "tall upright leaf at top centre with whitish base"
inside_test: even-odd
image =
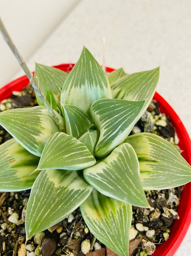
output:
[[[61,102],[88,112],[91,104],[101,98],[112,98],[110,85],[99,63],[84,47],[63,85]]]

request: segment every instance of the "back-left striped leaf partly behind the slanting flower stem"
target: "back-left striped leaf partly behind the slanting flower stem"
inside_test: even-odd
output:
[[[38,63],[35,65],[35,77],[37,77],[40,90],[45,95],[52,108],[56,111],[58,111],[57,107],[60,108],[62,86],[67,76],[67,72],[57,68]],[[35,94],[39,105],[44,105],[36,92]]]

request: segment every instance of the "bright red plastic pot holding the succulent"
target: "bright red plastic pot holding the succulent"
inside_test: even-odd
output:
[[[61,64],[55,67],[63,71],[72,70],[74,64]],[[108,72],[113,71],[112,68],[107,68]],[[28,85],[28,78],[26,76],[20,77],[11,83],[8,83],[0,89],[0,101],[10,97],[12,91],[22,90],[23,87]],[[174,112],[172,107],[167,101],[163,99],[157,92],[154,95],[154,99],[160,103],[160,110],[169,116],[172,125],[175,127],[177,135],[180,139],[180,149],[182,150],[182,156],[185,160],[191,164],[191,139],[185,130],[178,115]],[[174,220],[172,231],[170,232],[169,239],[163,244],[157,246],[157,249],[153,256],[173,256],[176,250],[179,248],[185,234],[191,223],[191,183],[186,184],[182,191],[180,205],[178,208],[179,220]]]

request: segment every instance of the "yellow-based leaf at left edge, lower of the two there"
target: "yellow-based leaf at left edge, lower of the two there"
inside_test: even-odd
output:
[[[0,191],[22,191],[30,189],[37,177],[33,173],[39,157],[11,139],[0,145]]]

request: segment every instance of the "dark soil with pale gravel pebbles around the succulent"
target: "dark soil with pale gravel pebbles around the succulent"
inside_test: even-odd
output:
[[[37,105],[31,86],[0,103],[0,112],[11,108]],[[32,118],[32,117],[31,117]],[[152,101],[146,113],[132,130],[152,132],[178,148],[178,138],[169,118],[160,113]],[[0,126],[0,143],[11,136]],[[130,230],[130,256],[151,255],[158,244],[169,238],[174,219],[179,219],[182,187],[161,191],[146,191],[152,208],[133,207]],[[26,242],[24,219],[30,191],[0,192],[0,255],[2,256],[116,256],[101,244],[85,225],[79,208],[55,226],[36,234]]]

